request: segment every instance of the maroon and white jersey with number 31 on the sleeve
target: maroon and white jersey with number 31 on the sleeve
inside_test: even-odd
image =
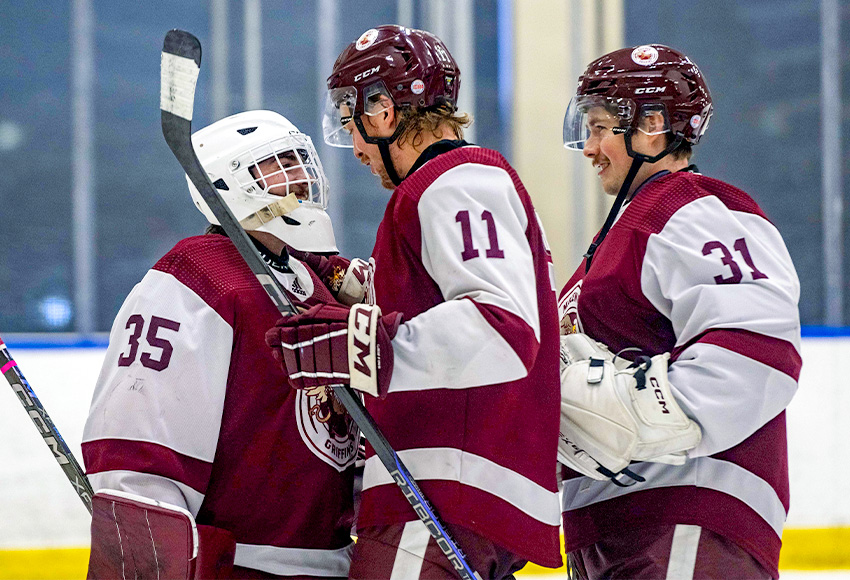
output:
[[[789,493],[784,410],[801,367],[799,296],[782,237],[747,194],[688,172],[641,187],[590,272],[582,262],[561,292],[562,331],[584,332],[613,352],[671,352],[673,394],[702,441],[682,466],[632,464],[646,482],[631,487],[567,470],[568,549],[642,526],[695,524],[778,574]]]

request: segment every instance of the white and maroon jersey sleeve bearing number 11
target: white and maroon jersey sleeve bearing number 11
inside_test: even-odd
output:
[[[422,263],[445,302],[402,324],[389,391],[521,379],[540,341],[528,217],[510,176],[465,163],[418,205]]]

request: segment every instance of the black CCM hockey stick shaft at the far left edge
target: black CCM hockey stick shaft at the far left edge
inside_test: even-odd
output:
[[[68,481],[74,486],[74,491],[77,492],[77,495],[80,496],[83,504],[85,504],[86,509],[91,513],[91,498],[94,495],[94,491],[91,488],[88,478],[83,473],[80,464],[74,459],[74,454],[68,449],[68,445],[65,444],[65,440],[62,439],[62,435],[59,434],[56,425],[50,419],[50,415],[44,410],[41,401],[35,396],[32,387],[30,387],[24,378],[24,375],[18,368],[18,363],[9,354],[9,349],[6,347],[2,338],[0,338],[0,373],[6,377],[6,380],[12,386],[12,390],[15,391],[18,399],[20,399],[24,410],[29,414],[35,428],[38,429],[44,442],[53,453],[53,457],[56,458],[62,471],[65,472]]]

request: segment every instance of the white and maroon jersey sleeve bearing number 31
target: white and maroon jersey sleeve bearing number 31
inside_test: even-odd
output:
[[[670,383],[703,431],[691,456],[729,449],[785,409],[800,286],[769,221],[714,196],[684,205],[649,237],[641,287],[676,335]]]

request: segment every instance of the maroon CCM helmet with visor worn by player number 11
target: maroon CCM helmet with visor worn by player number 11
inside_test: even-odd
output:
[[[435,35],[395,24],[370,28],[342,51],[328,77],[325,142],[351,147],[343,127],[383,111],[382,95],[399,108],[455,107],[459,88],[460,69]]]

